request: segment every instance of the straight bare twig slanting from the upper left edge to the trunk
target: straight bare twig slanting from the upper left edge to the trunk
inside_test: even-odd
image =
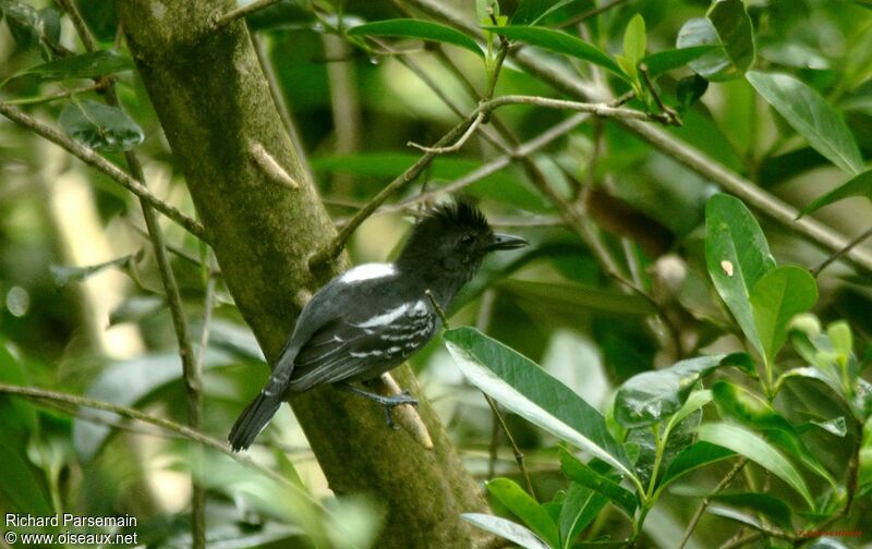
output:
[[[85,147],[84,145],[74,142],[73,139],[58,132],[53,127],[31,118],[21,110],[8,103],[0,102],[0,114],[2,114],[3,117],[8,118],[9,120],[17,124],[23,125],[24,127],[27,127],[35,134],[39,135],[40,137],[47,141],[50,141],[55,145],[58,145],[62,149],[66,150],[74,157],[85,162],[86,164],[90,166],[92,168],[101,171],[102,173],[108,175],[112,181],[119,183],[121,186],[123,186],[124,188],[126,188],[128,191],[135,194],[144,202],[146,202],[149,206],[154,207],[159,212],[164,213],[168,218],[172,219],[173,221],[182,225],[187,232],[190,232],[197,239],[204,242],[208,242],[208,237],[206,236],[206,230],[203,228],[202,224],[199,224],[196,220],[182,213],[181,211],[170,206],[169,204],[165,203],[157,196],[153,195],[152,192],[148,191],[148,188],[142,184],[142,182],[124,173],[116,164],[101,157],[93,148]]]

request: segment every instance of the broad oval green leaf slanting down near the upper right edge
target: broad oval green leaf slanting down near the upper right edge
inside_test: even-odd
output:
[[[752,71],[746,77],[818,152],[850,174],[863,171],[850,130],[818,91],[787,74]]]

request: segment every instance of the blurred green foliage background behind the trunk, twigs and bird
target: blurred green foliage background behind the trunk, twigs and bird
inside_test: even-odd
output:
[[[544,10],[553,3],[520,2],[526,10]],[[560,3],[561,8],[540,22],[542,26],[560,26],[596,8],[594,2],[581,0]],[[123,52],[123,41],[117,39],[113,4],[89,0],[77,4],[100,48],[118,42]],[[414,8],[427,2],[411,4]],[[477,23],[481,13],[475,14],[471,2],[445,4],[469,24]],[[518,4],[506,1],[499,9],[510,16],[521,9]],[[44,11],[27,11],[22,5]],[[646,51],[653,53],[673,49],[682,25],[693,17],[704,17],[710,3],[629,0],[602,7],[608,9],[567,30],[604,51],[627,54],[625,32],[637,14],[644,20]],[[70,17],[61,16],[59,7],[4,1],[0,8],[5,15],[0,28],[0,76],[17,75],[39,65],[56,57],[61,47],[83,51]],[[337,36],[337,28],[342,34],[347,27],[365,21],[410,14],[429,19],[420,11],[410,13],[410,9],[404,2],[282,1],[247,19],[275,70],[278,89],[290,107],[324,202],[340,223],[420,157],[420,151],[407,146],[408,142],[435,143],[457,123],[457,113],[440,99],[440,94],[464,115],[475,105],[455,71],[432,46],[425,48],[419,40],[396,36],[379,37],[379,41]],[[755,53],[750,59],[734,58],[736,77],[722,82],[713,77],[702,99],[689,106],[680,105],[685,96],[678,85],[692,74],[690,69],[678,68],[657,80],[659,95],[678,109],[683,122],[668,131],[681,143],[799,210],[855,173],[834,166],[828,160],[831,156],[821,154],[820,145],[807,134],[798,134],[795,120],[770,108],[742,73],[753,63],[755,71],[791,74],[816,90],[845,121],[849,137],[860,155],[868,158],[872,144],[872,10],[863,2],[822,0],[749,1],[743,9],[753,27]],[[29,15],[21,13],[39,16],[28,20]],[[48,28],[50,35],[52,25],[58,25],[59,40],[33,32]],[[720,38],[729,42],[724,36]],[[735,36],[730,39],[730,44],[739,40]],[[403,53],[384,54],[385,48]],[[451,45],[439,48],[479,90],[486,88],[487,71],[477,56]],[[615,95],[631,87],[584,61],[560,58],[558,62],[585,81],[610,87]],[[144,141],[135,151],[153,192],[193,216],[183,178],[173,166],[136,72],[119,72],[117,77],[121,102],[142,129]],[[12,103],[90,84],[88,80],[24,74],[4,82],[0,93],[3,101]],[[642,88],[637,91],[647,98],[634,100],[629,107],[656,112],[653,95]],[[562,97],[508,61],[495,96],[512,94]],[[94,91],[76,94],[75,98],[21,107],[70,131],[62,112],[70,106],[78,108],[86,100],[100,100]],[[524,142],[571,113],[517,106],[500,109],[498,115]],[[110,133],[116,130],[110,127]],[[133,133],[133,141],[138,141]],[[427,191],[448,185],[498,157],[498,148],[482,138],[482,133],[459,152],[440,155],[416,183],[403,187],[391,202],[403,204],[417,196],[424,184]],[[184,423],[185,393],[172,324],[154,256],[142,235],[142,216],[132,196],[26,129],[3,121],[0,136],[0,291],[4,296],[0,318],[1,380],[111,401]],[[118,151],[105,155],[116,162],[122,158]],[[602,254],[591,241],[568,227],[560,206],[531,181],[529,170],[510,163],[464,192],[481,199],[495,224],[523,234],[533,245],[526,252],[488,261],[451,312],[453,327],[477,326],[542,365],[607,416],[615,391],[633,375],[665,368],[682,357],[753,347],[748,333],[743,335],[731,320],[706,268],[705,205],[718,191],[716,181],[701,176],[610,120],[591,119],[530,157],[547,184],[585,212],[585,223],[593,221],[588,227],[598,235],[605,254],[641,292],[627,292],[626,285],[609,277]],[[869,185],[859,185],[855,194],[872,197]],[[871,211],[867,198],[841,200],[814,216],[841,234],[857,235],[869,230]],[[384,260],[396,252],[410,222],[407,212],[388,210],[367,219],[354,233],[348,247],[353,263]],[[832,251],[812,245],[791,224],[775,222],[765,207],[755,209],[754,217],[778,265],[815,269],[832,255]],[[203,267],[211,265],[208,251],[178,225],[166,219],[161,222],[177,252],[172,265],[194,342],[201,341],[205,310],[214,305],[208,321],[208,350],[198,351],[205,391],[202,430],[221,439],[242,405],[259,390],[267,368],[261,364],[259,349],[220,276],[210,276],[209,268]],[[650,244],[646,237],[652,236],[659,245],[645,247]],[[99,269],[80,269],[118,258],[121,260]],[[214,295],[208,291],[209,280],[216,281]],[[869,362],[869,270],[845,261],[836,261],[816,276],[820,298],[813,313],[824,327],[837,320],[850,326],[853,335],[848,354],[855,365],[852,376],[859,376]],[[674,329],[671,341],[668,329],[653,316],[655,310],[668,317]],[[736,314],[731,307],[729,310]],[[680,342],[678,347],[675,340]],[[460,374],[445,344],[435,341],[412,364],[422,390],[436,402],[470,471],[482,480],[501,476],[523,486],[511,447],[495,427],[497,423],[481,393]],[[806,366],[809,359],[791,346],[777,364],[780,370]],[[705,386],[712,387],[714,379],[760,392],[753,382],[731,370],[708,378]],[[799,424],[802,419],[788,412],[796,410],[803,398],[807,396],[785,396],[775,404],[794,424]],[[872,537],[872,525],[864,513],[869,500],[861,497],[860,487],[850,486],[851,479],[843,476],[849,469],[851,455],[859,455],[869,408],[863,408],[862,403],[853,410],[839,407],[837,399],[826,399],[824,404],[838,412],[823,419],[843,416],[857,425],[841,437],[806,431],[802,440],[836,476],[839,486],[858,496],[851,512],[839,516],[835,524],[836,529],[859,530],[861,539],[840,540],[848,545],[868,541]],[[5,456],[0,471],[0,505],[4,511],[126,513],[140,517],[137,532],[143,542],[190,542],[186,439],[111,414],[73,411],[48,401],[34,403],[2,396],[0,408],[7,426],[7,436],[0,442]],[[705,408],[706,419],[728,415],[720,407]],[[538,502],[552,501],[569,486],[556,450],[558,439],[518,415],[507,414],[506,420],[524,454]],[[868,432],[865,437],[868,446]],[[208,489],[207,537],[211,542],[342,546],[365,545],[373,539],[379,521],[378,503],[365,496],[342,499],[340,503],[332,500],[291,414],[282,411],[262,442],[252,452],[254,457],[299,479],[315,498],[341,504],[334,509],[341,509],[337,514],[343,517],[342,527],[320,515],[306,497],[289,496],[251,467],[207,452],[203,468],[206,474],[201,478]],[[645,520],[640,542],[652,547],[674,545],[689,524],[699,499],[730,467],[730,462],[706,466],[666,490]],[[821,499],[820,510],[825,509],[824,514],[835,517],[838,505],[827,508],[823,499],[844,503],[844,495],[831,493],[826,483],[802,471]],[[863,479],[862,469],[860,478]],[[749,465],[734,488],[776,496],[791,508],[791,527],[797,532],[823,523],[802,516],[800,497],[758,465]],[[505,503],[502,498],[492,501],[495,512],[524,520],[517,510],[512,515]],[[749,511],[747,501],[744,507],[737,507],[752,517],[768,516],[753,505]],[[632,535],[632,523],[609,505],[583,538],[621,540]],[[322,528],[330,534],[318,540],[319,535],[325,535]],[[744,526],[744,532],[737,528],[736,521],[706,513],[691,542],[708,547],[734,535],[755,532],[752,526]],[[778,541],[777,536],[768,535],[764,539],[772,539],[768,542],[775,545],[802,541]]]

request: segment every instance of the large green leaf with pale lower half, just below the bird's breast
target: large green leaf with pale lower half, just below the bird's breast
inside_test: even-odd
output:
[[[632,477],[605,418],[537,364],[473,328],[445,332],[449,353],[479,389],[529,422]]]

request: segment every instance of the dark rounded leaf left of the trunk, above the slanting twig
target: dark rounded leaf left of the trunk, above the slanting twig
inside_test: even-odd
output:
[[[99,150],[130,150],[145,138],[121,109],[89,99],[68,103],[60,124],[72,138]]]

